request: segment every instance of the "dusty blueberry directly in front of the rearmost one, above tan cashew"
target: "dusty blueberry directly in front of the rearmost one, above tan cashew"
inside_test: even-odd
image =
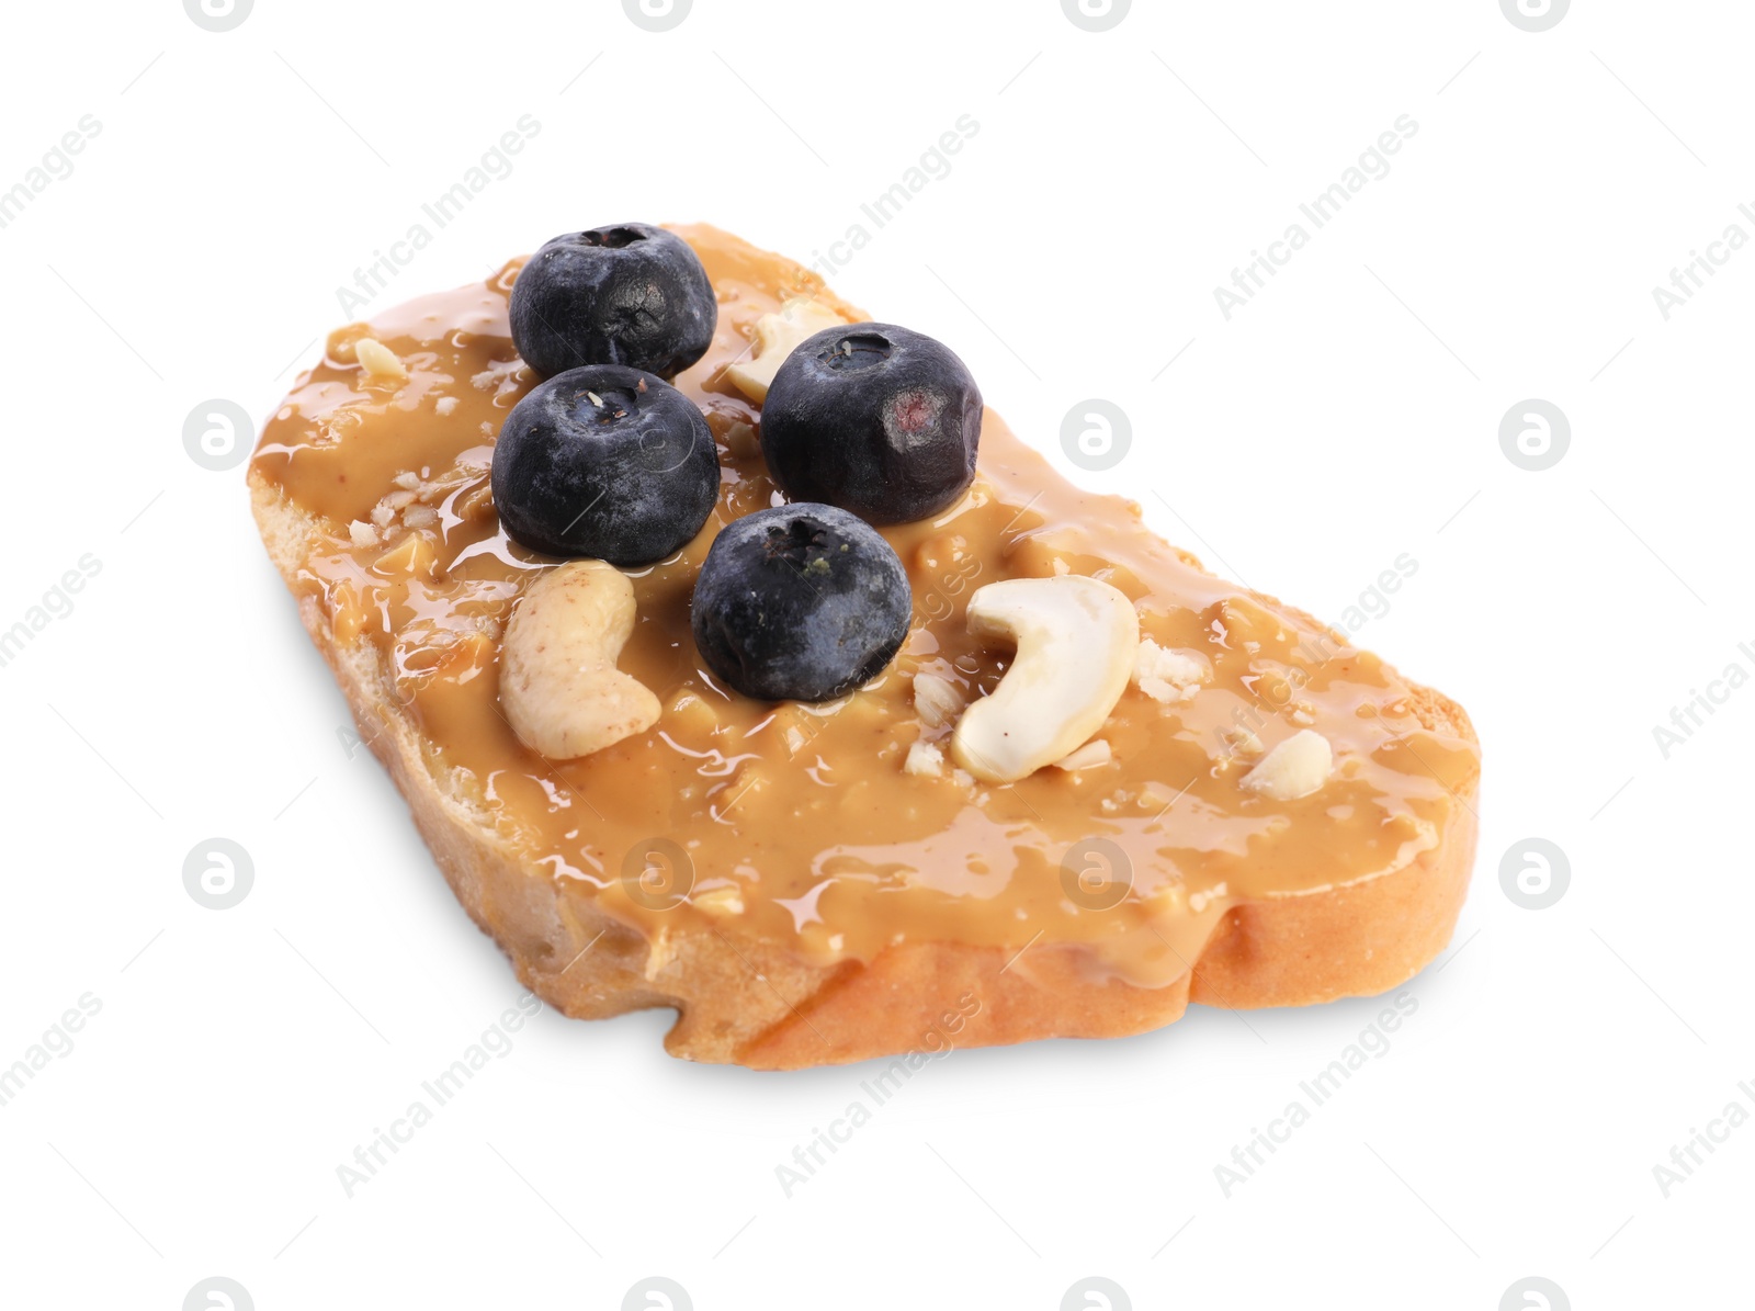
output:
[[[720,453],[695,402],[639,369],[569,369],[505,416],[493,502],[532,551],[649,565],[720,498]]]

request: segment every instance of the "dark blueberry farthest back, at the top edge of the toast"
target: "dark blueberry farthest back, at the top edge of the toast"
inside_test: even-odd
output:
[[[700,258],[649,223],[569,232],[512,283],[512,342],[542,377],[620,363],[676,377],[707,353],[720,305]]]

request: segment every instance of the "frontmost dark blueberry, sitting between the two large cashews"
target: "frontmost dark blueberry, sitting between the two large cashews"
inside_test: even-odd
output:
[[[834,700],[907,637],[913,593],[890,542],[834,505],[777,505],[713,539],[695,579],[695,646],[756,700]]]

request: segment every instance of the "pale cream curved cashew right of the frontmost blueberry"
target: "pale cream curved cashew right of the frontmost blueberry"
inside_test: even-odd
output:
[[[1013,783],[1102,728],[1134,674],[1139,616],[1093,577],[1014,577],[969,597],[969,632],[1009,641],[1018,655],[963,713],[951,756],[978,779]]]

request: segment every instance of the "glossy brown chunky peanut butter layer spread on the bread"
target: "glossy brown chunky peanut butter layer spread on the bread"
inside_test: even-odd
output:
[[[883,530],[914,591],[914,627],[890,670],[830,706],[720,688],[690,637],[690,590],[713,534],[777,502],[755,437],[760,412],[721,374],[756,318],[792,295],[862,316],[790,261],[713,228],[679,232],[713,279],[720,326],[676,384],[707,414],[723,486],[679,556],[630,574],[639,620],[620,669],[663,706],[649,732],[544,760],[498,707],[502,625],[525,581],[555,563],[507,541],[488,490],[495,433],[537,381],[505,318],[519,261],[337,332],[254,456],[325,528],[297,586],[340,642],[390,656],[435,763],[467,776],[532,863],[591,885],[611,914],[651,935],[691,921],[820,964],[870,960],[904,941],[1081,944],[1092,969],[1165,985],[1230,906],[1399,869],[1437,844],[1478,770],[1472,744],[1422,728],[1408,684],[1376,656],[1200,572],[1135,505],[1065,483],[992,411],[969,495],[932,521]],[[363,335],[395,351],[407,379],[365,376],[353,353]],[[1006,786],[949,767],[904,772],[918,737],[948,744],[951,732],[921,727],[913,674],[974,697],[1006,669],[1009,653],[965,634],[971,591],[1053,572],[1120,588],[1141,632],[1204,658],[1211,679],[1176,704],[1128,686],[1100,732],[1109,765]],[[1257,732],[1243,751],[1239,727]],[[1241,788],[1260,749],[1300,727],[1334,748],[1327,786],[1293,802]],[[1125,853],[1125,890],[1069,890],[1062,862],[1092,837]]]

